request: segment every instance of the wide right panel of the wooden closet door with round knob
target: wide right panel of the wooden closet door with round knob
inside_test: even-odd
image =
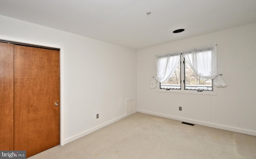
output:
[[[14,46],[14,149],[27,157],[59,145],[59,68],[59,51]]]

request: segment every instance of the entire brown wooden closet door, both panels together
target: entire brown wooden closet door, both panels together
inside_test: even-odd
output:
[[[30,157],[59,145],[59,51],[8,43],[0,48],[0,149],[25,150]]]

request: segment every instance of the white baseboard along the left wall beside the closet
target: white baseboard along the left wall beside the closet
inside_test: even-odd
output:
[[[106,122],[106,123],[104,123],[104,124],[101,124],[101,125],[99,125],[99,126],[96,126],[96,127],[92,128],[92,129],[90,129],[90,130],[87,130],[87,131],[85,131],[85,132],[79,133],[78,135],[74,135],[74,136],[72,136],[72,137],[69,137],[68,139],[65,139],[65,143],[64,143],[64,144],[70,143],[70,142],[72,142],[72,141],[74,141],[74,140],[76,140],[76,139],[79,139],[80,137],[83,137],[83,136],[85,136],[85,135],[88,135],[89,133],[95,132],[96,130],[99,130],[99,129],[105,127],[105,126],[108,126],[108,125],[110,125],[110,124],[112,124],[112,123],[114,123],[114,122],[117,122],[118,120],[121,120],[121,119],[123,119],[123,118],[125,118],[125,117],[126,117],[126,115],[120,116],[120,117],[118,117],[118,118],[116,118],[116,119],[110,120],[109,122]]]

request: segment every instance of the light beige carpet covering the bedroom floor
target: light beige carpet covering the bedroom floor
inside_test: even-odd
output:
[[[256,137],[135,113],[29,159],[256,159]]]

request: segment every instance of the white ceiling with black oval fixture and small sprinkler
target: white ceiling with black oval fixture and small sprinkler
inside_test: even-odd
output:
[[[142,49],[254,23],[256,0],[0,0],[0,15]]]

